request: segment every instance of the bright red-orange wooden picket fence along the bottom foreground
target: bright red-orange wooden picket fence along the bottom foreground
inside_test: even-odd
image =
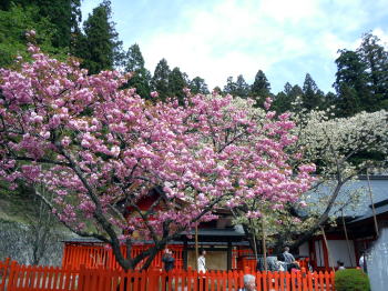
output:
[[[236,291],[243,287],[245,273],[256,277],[258,291],[334,291],[334,273],[309,272],[251,272],[174,270],[149,271],[110,270],[99,268],[79,269],[20,265],[0,261],[0,291]]]

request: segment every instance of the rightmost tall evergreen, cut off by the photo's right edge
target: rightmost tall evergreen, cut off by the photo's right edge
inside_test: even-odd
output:
[[[379,38],[369,32],[364,34],[361,46],[357,49],[369,77],[372,93],[369,99],[370,111],[380,109],[381,104],[388,106],[388,51],[379,42]]]

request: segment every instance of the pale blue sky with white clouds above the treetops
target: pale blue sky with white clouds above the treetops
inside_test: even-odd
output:
[[[83,20],[100,0],[83,0]],[[210,89],[263,70],[272,92],[310,73],[334,91],[338,49],[356,49],[365,32],[388,43],[388,0],[111,0],[125,51],[137,43],[153,73],[165,58]]]

